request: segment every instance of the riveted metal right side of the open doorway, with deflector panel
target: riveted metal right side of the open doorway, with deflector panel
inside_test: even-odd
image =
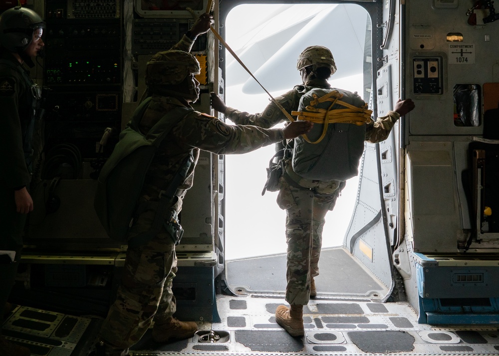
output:
[[[399,11],[378,4],[369,9],[371,22],[366,30],[364,55],[364,85],[366,102],[376,116],[392,110],[400,91]],[[381,15],[382,14],[382,15]],[[372,48],[371,51],[367,49]],[[369,83],[372,85],[368,86]],[[395,99],[394,99],[395,98]],[[375,116],[375,117],[376,117]],[[374,118],[375,118],[374,117]],[[399,159],[400,141],[398,122],[387,140],[378,144],[365,142],[364,155],[359,166],[357,199],[344,247],[355,256],[383,285],[380,299],[390,299],[395,288],[392,251],[398,244],[399,231]]]

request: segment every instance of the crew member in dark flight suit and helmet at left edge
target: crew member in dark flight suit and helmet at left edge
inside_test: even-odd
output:
[[[40,54],[45,23],[33,10],[21,6],[0,14],[0,317],[8,313],[7,299],[21,257],[22,232],[26,215],[33,210],[29,194],[32,174],[33,135],[37,127],[41,90],[23,66],[34,66]],[[5,356],[29,356],[25,347],[0,336]]]

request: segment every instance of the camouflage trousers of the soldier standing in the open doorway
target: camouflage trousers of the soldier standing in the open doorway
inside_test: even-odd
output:
[[[324,218],[333,210],[344,184],[303,179],[286,162],[277,204],[286,210],[285,300],[290,305],[306,305],[310,300],[310,279],[319,275]]]

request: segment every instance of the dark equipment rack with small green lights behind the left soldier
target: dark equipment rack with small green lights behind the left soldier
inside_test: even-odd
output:
[[[47,0],[45,21],[45,149],[70,144],[83,161],[103,159],[121,129],[121,1]]]

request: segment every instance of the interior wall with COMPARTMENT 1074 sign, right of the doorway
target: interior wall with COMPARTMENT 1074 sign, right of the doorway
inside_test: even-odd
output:
[[[490,1],[405,3],[403,85],[416,108],[403,132],[409,258],[395,265],[420,322],[497,323],[497,14]]]

